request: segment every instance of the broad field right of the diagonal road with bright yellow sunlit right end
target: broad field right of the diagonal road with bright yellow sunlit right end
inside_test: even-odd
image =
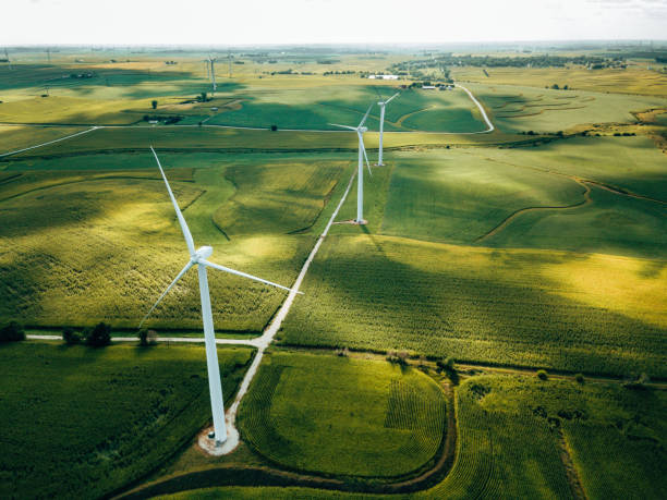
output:
[[[290,344],[665,376],[666,278],[663,261],[629,257],[329,236],[280,336]]]

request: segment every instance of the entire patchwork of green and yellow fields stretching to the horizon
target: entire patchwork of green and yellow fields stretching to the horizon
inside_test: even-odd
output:
[[[68,52],[46,64],[21,53],[16,71],[0,72],[0,155],[111,125],[0,161],[0,322],[134,331],[186,261],[150,145],[196,245],[291,285],[356,169],[355,134],[330,123],[355,125],[409,83],[322,73],[422,57],[238,54],[232,80],[218,54],[218,92],[201,102],[211,97],[205,56],[165,64],[123,50],[76,61]],[[149,473],[159,479],[156,471],[237,466],[379,491],[434,466],[452,415],[447,475],[396,498],[665,497],[667,95],[665,75],[633,64],[452,69],[497,125],[488,134],[471,134],[486,125],[463,90],[402,90],[387,108],[387,166],[364,169],[368,223],[340,223],[356,214],[352,184],[280,346],[241,403],[245,444],[229,462],[204,463],[195,448],[192,463],[169,462],[209,423],[202,346],[0,346],[0,497],[110,496]],[[544,88],[555,83],[569,89]],[[371,162],[378,119],[374,106]],[[601,126],[570,136],[592,124]],[[626,131],[640,135],[597,135]],[[286,297],[215,271],[209,285],[218,333],[237,339],[262,331]],[[146,325],[201,331],[194,272]],[[333,355],[342,347],[381,355]],[[380,361],[393,351],[475,369],[459,371],[461,385],[449,373],[450,383],[423,363]],[[219,356],[229,398],[252,352]],[[541,367],[586,381],[518,375]],[[601,381],[640,374],[658,383]],[[177,498],[219,496],[353,493],[234,487]]]

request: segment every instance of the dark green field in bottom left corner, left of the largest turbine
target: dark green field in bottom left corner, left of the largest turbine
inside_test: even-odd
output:
[[[207,423],[202,346],[0,346],[0,496],[99,498],[141,478]],[[247,349],[219,350],[237,390]]]

